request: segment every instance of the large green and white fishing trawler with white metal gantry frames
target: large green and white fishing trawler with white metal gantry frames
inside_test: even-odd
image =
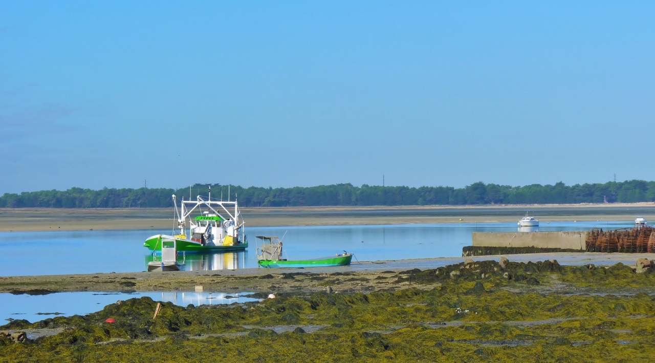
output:
[[[144,247],[160,251],[162,240],[174,240],[177,250],[183,252],[233,252],[248,248],[244,221],[236,201],[212,201],[211,188],[207,200],[199,195],[196,201],[182,199],[179,210],[175,200],[174,195],[179,233],[148,237],[143,242]]]

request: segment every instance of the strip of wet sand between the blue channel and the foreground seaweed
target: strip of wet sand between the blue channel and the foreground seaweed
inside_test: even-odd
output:
[[[638,258],[655,259],[655,254],[607,254],[607,253],[549,253],[521,254],[507,256],[510,261],[546,261],[556,259],[561,265],[635,265]],[[495,260],[500,256],[477,256],[474,261]],[[221,271],[178,271],[139,273],[94,273],[84,275],[45,275],[0,277],[0,292],[43,294],[48,292],[119,292],[119,291],[193,291],[202,285],[204,292],[263,292],[269,294],[310,294],[326,290],[323,279],[335,274],[346,274],[346,278],[331,288],[336,292],[373,292],[381,286],[376,280],[384,271],[407,271],[411,269],[436,269],[464,261],[465,258],[405,259],[389,261],[354,262],[343,267],[318,267],[311,269],[237,269]],[[307,278],[289,278],[304,275]],[[402,284],[394,288],[406,288]],[[425,286],[432,288],[432,286]]]

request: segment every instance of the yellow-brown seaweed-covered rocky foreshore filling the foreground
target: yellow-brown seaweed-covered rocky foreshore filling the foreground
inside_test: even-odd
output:
[[[650,362],[651,269],[466,259],[422,270],[151,273],[178,288],[202,281],[206,290],[255,291],[245,289],[257,284],[263,292],[253,295],[261,301],[231,305],[180,307],[141,297],[84,316],[13,320],[0,326],[6,332],[0,356],[9,362]],[[122,275],[78,275],[88,281],[77,283],[89,291],[94,280],[116,280],[111,283],[123,290],[152,283]],[[11,283],[3,280],[7,291]],[[266,299],[269,292],[276,297]]]

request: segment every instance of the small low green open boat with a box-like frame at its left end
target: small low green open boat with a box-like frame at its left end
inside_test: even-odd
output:
[[[278,237],[257,236],[262,240],[257,248],[257,264],[268,269],[298,268],[298,267],[333,267],[350,265],[352,254],[345,252],[336,256],[317,259],[284,259],[282,258],[282,241]]]

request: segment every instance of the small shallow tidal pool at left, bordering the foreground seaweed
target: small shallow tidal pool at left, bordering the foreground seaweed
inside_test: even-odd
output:
[[[55,316],[86,315],[102,310],[106,305],[118,300],[132,299],[132,297],[149,296],[155,301],[170,301],[175,305],[187,306],[231,304],[234,302],[257,301],[251,294],[225,294],[220,292],[57,292],[47,295],[12,295],[0,293],[0,325],[3,320],[12,318],[25,319],[29,322],[54,318]],[[241,295],[241,296],[240,296]],[[227,297],[229,298],[227,298]],[[41,314],[39,314],[41,313]]]

